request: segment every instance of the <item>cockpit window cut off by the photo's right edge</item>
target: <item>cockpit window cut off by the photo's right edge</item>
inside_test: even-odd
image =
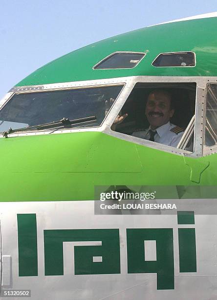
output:
[[[205,145],[217,145],[217,84],[207,86]]]

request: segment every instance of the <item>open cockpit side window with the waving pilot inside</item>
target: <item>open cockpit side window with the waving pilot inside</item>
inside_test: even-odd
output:
[[[137,83],[111,129],[193,151],[196,83]]]

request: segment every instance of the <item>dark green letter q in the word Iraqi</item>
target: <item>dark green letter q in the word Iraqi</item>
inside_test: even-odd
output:
[[[146,261],[144,241],[156,241],[154,261]],[[157,289],[174,289],[174,243],[172,228],[127,229],[128,273],[156,273]]]

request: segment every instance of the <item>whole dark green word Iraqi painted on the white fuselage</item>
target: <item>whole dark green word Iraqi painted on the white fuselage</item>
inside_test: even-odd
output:
[[[178,212],[178,225],[195,224],[194,212]],[[36,214],[18,214],[19,276],[38,275]],[[127,228],[128,274],[156,273],[157,289],[174,289],[173,228]],[[44,233],[44,275],[64,275],[63,243],[74,246],[75,275],[120,274],[119,229],[49,229]],[[156,260],[146,260],[144,241],[156,241]],[[178,228],[179,270],[196,272],[195,228]],[[102,261],[93,261],[101,256]]]

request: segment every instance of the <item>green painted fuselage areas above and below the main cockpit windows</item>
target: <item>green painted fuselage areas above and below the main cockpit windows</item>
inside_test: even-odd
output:
[[[155,25],[94,43],[17,86],[126,76],[217,76],[217,18]],[[146,52],[133,69],[93,70],[115,51]],[[155,68],[162,52],[193,51],[194,68]],[[97,185],[215,185],[217,154],[186,158],[103,132],[0,138],[0,201],[93,200]]]

